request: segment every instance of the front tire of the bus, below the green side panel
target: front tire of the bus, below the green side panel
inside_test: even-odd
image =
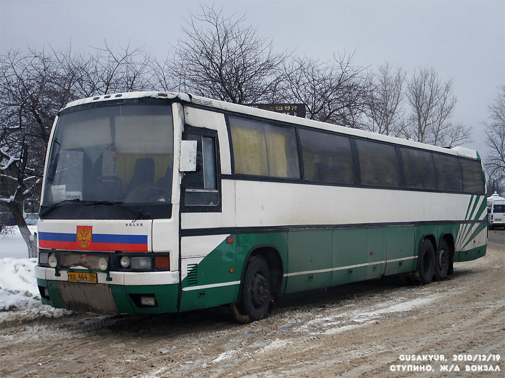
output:
[[[251,322],[265,318],[272,296],[272,277],[263,256],[255,256],[247,265],[242,282],[240,308]]]

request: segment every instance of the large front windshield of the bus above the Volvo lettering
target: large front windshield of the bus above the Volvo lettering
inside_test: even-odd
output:
[[[62,111],[42,205],[170,203],[173,144],[172,107],[166,104]]]

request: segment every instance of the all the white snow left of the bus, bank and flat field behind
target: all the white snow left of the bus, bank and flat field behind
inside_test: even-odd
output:
[[[30,226],[33,233],[36,226]],[[35,278],[37,259],[28,259],[28,248],[19,229],[0,236],[0,311],[28,309],[41,304]]]

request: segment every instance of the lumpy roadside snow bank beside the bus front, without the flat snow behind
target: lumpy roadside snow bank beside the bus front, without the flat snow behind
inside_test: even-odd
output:
[[[0,311],[41,304],[35,265],[37,259],[0,259]]]

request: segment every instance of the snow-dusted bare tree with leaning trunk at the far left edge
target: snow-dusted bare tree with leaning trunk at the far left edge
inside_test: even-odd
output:
[[[36,256],[36,245],[23,218],[23,201],[40,193],[41,179],[36,167],[43,165],[45,143],[37,146],[40,154],[32,155],[26,173],[19,172],[20,151],[25,135],[49,135],[58,111],[53,95],[57,65],[43,51],[3,55],[0,68],[0,207],[10,212],[28,246],[29,257]],[[18,177],[23,179],[22,183]]]

